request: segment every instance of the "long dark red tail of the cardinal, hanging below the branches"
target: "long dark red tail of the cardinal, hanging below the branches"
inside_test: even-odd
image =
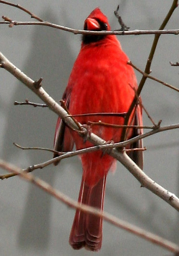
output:
[[[106,176],[94,187],[85,184],[83,178],[78,202],[103,210]],[[76,211],[69,243],[74,249],[85,246],[87,250],[98,251],[102,246],[102,218]]]

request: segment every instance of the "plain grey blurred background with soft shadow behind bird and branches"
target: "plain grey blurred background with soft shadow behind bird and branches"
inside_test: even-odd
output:
[[[64,26],[82,28],[85,18],[96,7],[109,17],[112,29],[119,28],[113,14],[120,14],[130,29],[157,29],[168,12],[171,0],[18,0],[42,19]],[[27,21],[22,11],[0,4],[0,16]],[[179,9],[167,29],[179,28]],[[79,35],[43,26],[0,26],[0,51],[29,77],[43,77],[44,89],[60,100],[72,65],[80,49]],[[144,69],[153,36],[118,37],[130,60]],[[161,36],[153,59],[152,75],[178,86],[179,36]],[[136,72],[138,81],[141,75]],[[51,158],[47,152],[22,151],[23,146],[52,148],[57,116],[47,108],[14,106],[13,102],[40,100],[5,70],[0,70],[0,158],[22,168]],[[147,80],[142,91],[143,103],[155,122],[163,125],[179,122],[179,94]],[[144,124],[150,121],[144,115]],[[179,196],[179,132],[168,131],[144,140],[144,171],[167,190]],[[0,170],[4,173],[4,170]],[[60,166],[36,170],[34,175],[56,189],[77,199],[81,165],[77,157]],[[105,211],[179,243],[179,214],[170,205],[144,188],[120,163],[115,174],[109,173]],[[51,198],[22,179],[0,181],[0,255],[2,256],[89,256],[84,249],[74,251],[68,237],[75,211]],[[166,250],[104,222],[103,244],[99,256],[171,255]]]

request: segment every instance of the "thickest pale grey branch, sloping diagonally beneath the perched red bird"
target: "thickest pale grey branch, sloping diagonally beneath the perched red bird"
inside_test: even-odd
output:
[[[10,72],[14,77],[19,79],[22,83],[24,83],[30,90],[38,95],[38,97],[45,102],[49,108],[59,115],[64,122],[67,123],[69,127],[72,129],[78,129],[77,124],[73,121],[72,118],[64,118],[67,116],[67,112],[57,103],[55,102],[49,94],[42,88],[39,87],[38,89],[34,87],[34,81],[27,77],[20,69],[18,69],[15,65],[13,65],[2,53],[0,53],[0,66]],[[80,125],[80,124],[79,124]],[[154,132],[155,130],[151,131]],[[80,133],[79,133],[80,134]],[[102,140],[97,135],[91,133],[90,138],[88,141],[95,145],[105,144],[106,141]],[[116,149],[112,149],[109,153],[111,156],[116,158],[123,166],[125,166],[129,172],[139,180],[142,187],[147,188],[154,194],[158,195],[160,198],[165,200],[168,204],[174,207],[176,210],[179,211],[179,198],[171,192],[168,192],[162,186],[157,184],[151,178],[149,178],[139,166],[137,166],[131,159],[128,157],[126,153],[120,152]]]

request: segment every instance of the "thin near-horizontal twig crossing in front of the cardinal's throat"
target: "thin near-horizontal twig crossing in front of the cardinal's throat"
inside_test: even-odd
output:
[[[0,21],[0,24],[7,24],[10,25],[11,23],[8,21]],[[57,24],[53,24],[48,21],[43,22],[22,22],[22,21],[12,21],[14,26],[50,26],[56,29],[68,31],[71,33],[77,34],[87,34],[87,35],[117,35],[117,36],[129,36],[129,35],[179,35],[179,29],[169,29],[169,30],[130,30],[130,31],[91,31],[91,30],[82,30],[82,29],[74,29],[66,26],[60,26]]]

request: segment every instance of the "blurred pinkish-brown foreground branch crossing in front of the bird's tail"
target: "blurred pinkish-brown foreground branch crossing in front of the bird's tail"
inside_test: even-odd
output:
[[[65,205],[68,205],[69,207],[79,209],[85,213],[90,213],[92,215],[98,216],[100,218],[103,218],[107,222],[115,225],[116,227],[119,227],[121,229],[124,229],[128,232],[131,232],[151,243],[155,243],[163,248],[166,248],[168,251],[179,253],[179,246],[175,243],[172,243],[158,235],[155,235],[149,231],[143,230],[135,225],[132,225],[126,221],[123,221],[119,218],[116,218],[115,216],[106,213],[101,212],[95,207],[91,207],[89,205],[84,205],[81,203],[78,203],[77,201],[71,199],[64,193],[57,191],[56,189],[52,188],[50,184],[45,182],[44,180],[41,180],[39,178],[34,177],[32,174],[25,173],[22,171],[22,169],[18,168],[17,166],[10,165],[2,160],[0,160],[0,167],[6,169],[9,172],[15,172],[16,174],[20,175],[21,178],[26,179],[26,181],[29,181],[36,186],[38,186],[43,191],[51,194],[51,196],[55,197],[57,200],[61,201]]]

